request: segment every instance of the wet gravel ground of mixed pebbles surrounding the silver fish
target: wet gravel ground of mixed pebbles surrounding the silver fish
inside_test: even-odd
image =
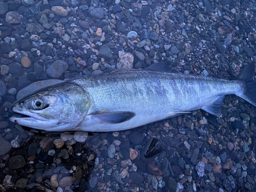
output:
[[[255,191],[256,111],[236,96],[225,97],[223,118],[198,110],[114,133],[8,120],[35,89],[162,60],[232,79],[255,60],[255,21],[254,0],[0,2],[0,190]]]

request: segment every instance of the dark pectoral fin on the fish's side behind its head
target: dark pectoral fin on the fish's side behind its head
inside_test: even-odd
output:
[[[117,124],[132,119],[136,114],[133,112],[110,112],[90,114],[92,119],[104,124]]]

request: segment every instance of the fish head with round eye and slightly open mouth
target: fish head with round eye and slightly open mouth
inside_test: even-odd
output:
[[[60,83],[13,105],[10,121],[45,131],[71,131],[90,109],[87,93],[75,83]]]

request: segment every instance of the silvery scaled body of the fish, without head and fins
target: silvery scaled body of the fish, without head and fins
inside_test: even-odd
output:
[[[204,76],[180,75],[157,71],[105,73],[99,76],[74,79],[88,92],[92,105],[88,113],[130,111],[136,116],[129,121],[102,126],[88,116],[81,126],[105,131],[137,127],[176,112],[200,109],[219,95],[235,94],[241,82]]]

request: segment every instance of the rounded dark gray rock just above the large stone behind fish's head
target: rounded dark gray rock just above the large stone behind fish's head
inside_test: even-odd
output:
[[[63,73],[69,69],[69,65],[66,61],[55,60],[52,65],[47,68],[46,73],[49,77],[59,79]]]

